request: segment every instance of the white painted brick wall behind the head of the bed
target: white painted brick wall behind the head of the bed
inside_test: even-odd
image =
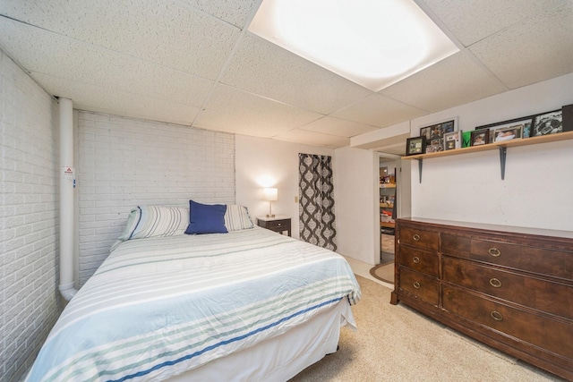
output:
[[[138,205],[235,203],[235,136],[80,111],[79,272],[107,258]]]

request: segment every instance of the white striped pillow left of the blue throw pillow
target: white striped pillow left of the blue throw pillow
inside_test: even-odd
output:
[[[119,240],[184,234],[189,225],[189,208],[138,206],[132,209]]]

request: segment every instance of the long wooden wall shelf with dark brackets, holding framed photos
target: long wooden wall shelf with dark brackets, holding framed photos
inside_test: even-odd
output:
[[[573,132],[560,132],[557,134],[542,135],[539,137],[523,138],[520,140],[506,140],[503,142],[493,142],[482,146],[472,146],[469,148],[453,149],[446,151],[439,151],[428,154],[416,154],[408,157],[402,157],[402,159],[415,159],[418,161],[418,169],[420,174],[420,183],[422,183],[422,168],[423,159],[432,159],[433,157],[452,157],[462,154],[469,154],[473,152],[481,151],[491,151],[499,150],[500,152],[500,171],[501,180],[505,179],[505,161],[508,155],[508,148],[518,147],[518,146],[529,146],[536,145],[539,143],[549,143],[556,142],[559,140],[573,140]]]

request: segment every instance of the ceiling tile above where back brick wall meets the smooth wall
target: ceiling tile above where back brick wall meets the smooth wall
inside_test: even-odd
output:
[[[289,130],[289,128],[282,126],[209,109],[201,110],[195,123],[193,123],[193,127],[218,132],[252,135],[261,138],[273,138],[277,134]]]

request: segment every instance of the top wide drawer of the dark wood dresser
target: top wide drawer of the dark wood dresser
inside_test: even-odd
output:
[[[441,235],[441,251],[459,258],[573,280],[573,267],[568,266],[573,261],[573,252],[569,251],[481,240],[449,233]]]

